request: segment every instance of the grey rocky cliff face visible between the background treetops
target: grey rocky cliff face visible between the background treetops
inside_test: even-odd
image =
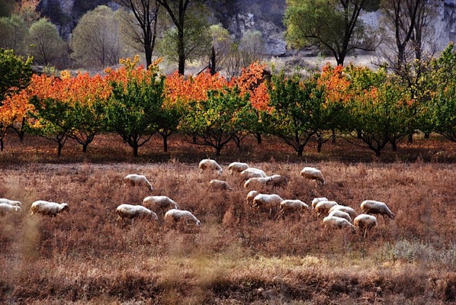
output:
[[[216,0],[207,3],[212,8],[213,22],[222,23],[234,37],[242,37],[247,30],[259,30],[263,33],[268,55],[287,55],[282,24],[286,0]],[[39,8],[58,26],[60,35],[68,38],[80,17],[102,4],[116,6],[108,0],[42,0]],[[380,15],[380,12],[369,12],[362,19],[376,28]],[[435,21],[437,49],[444,49],[453,40],[456,40],[456,0],[444,0],[439,5],[439,17]]]

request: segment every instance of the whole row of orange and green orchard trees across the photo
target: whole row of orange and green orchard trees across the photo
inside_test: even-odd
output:
[[[252,64],[238,78],[200,73],[164,76],[157,62],[148,69],[124,60],[105,76],[63,72],[33,75],[28,87],[6,94],[0,104],[0,140],[7,128],[55,141],[87,146],[101,132],[115,132],[134,155],[158,132],[167,139],[186,134],[220,155],[247,134],[272,134],[302,156],[308,141],[318,150],[336,134],[380,155],[385,146],[416,130],[438,132],[456,142],[456,54],[453,45],[432,60],[419,86],[410,89],[385,69],[331,67],[305,78],[270,76]],[[2,144],[3,147],[3,144]]]

